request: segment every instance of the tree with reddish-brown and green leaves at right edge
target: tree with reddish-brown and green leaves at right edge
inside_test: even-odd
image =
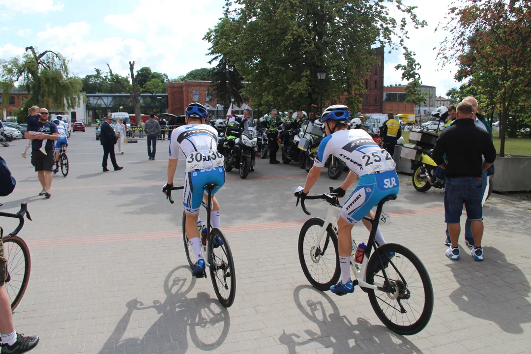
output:
[[[457,63],[458,81],[487,97],[487,110],[500,111],[500,156],[505,154],[509,116],[531,90],[531,6],[525,0],[459,0],[442,25],[449,35],[438,57]]]

